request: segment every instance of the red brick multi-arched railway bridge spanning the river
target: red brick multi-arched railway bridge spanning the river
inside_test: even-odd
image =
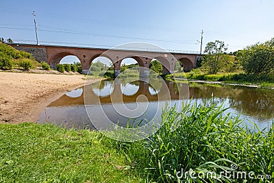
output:
[[[81,64],[84,74],[88,73],[90,64],[95,58],[103,56],[112,61],[115,75],[120,74],[121,62],[125,58],[133,58],[140,66],[140,76],[149,76],[149,64],[151,60],[157,59],[163,66],[163,74],[174,73],[177,61],[184,66],[188,72],[195,68],[197,59],[202,57],[198,53],[170,53],[167,51],[138,51],[127,49],[99,49],[87,47],[66,47],[56,45],[30,45],[21,43],[10,43],[12,47],[32,53],[38,62],[47,62],[51,68],[55,68],[65,56],[76,56]]]

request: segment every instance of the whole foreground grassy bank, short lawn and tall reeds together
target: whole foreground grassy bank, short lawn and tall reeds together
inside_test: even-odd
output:
[[[171,108],[158,132],[134,143],[53,125],[0,124],[0,182],[273,182],[274,127],[246,128],[224,111],[210,101]],[[224,171],[230,177],[219,177]],[[242,171],[253,179],[232,177]],[[210,172],[216,178],[198,177]]]

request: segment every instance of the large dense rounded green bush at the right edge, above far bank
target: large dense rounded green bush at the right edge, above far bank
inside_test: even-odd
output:
[[[237,59],[247,74],[274,73],[274,38],[238,51]]]

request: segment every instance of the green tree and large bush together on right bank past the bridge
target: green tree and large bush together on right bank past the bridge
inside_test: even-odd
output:
[[[197,61],[197,67],[203,67],[209,74],[216,74],[223,68],[235,66],[235,63],[238,62],[247,74],[274,73],[274,38],[232,53],[235,55],[236,62],[234,63],[231,62],[231,56],[229,56],[232,54],[227,54],[225,51],[227,51],[225,42],[220,40],[208,42],[204,51],[206,55]]]

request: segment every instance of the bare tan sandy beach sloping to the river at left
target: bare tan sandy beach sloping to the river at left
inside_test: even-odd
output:
[[[48,103],[82,86],[84,79],[84,75],[0,72],[0,123],[36,122]]]

